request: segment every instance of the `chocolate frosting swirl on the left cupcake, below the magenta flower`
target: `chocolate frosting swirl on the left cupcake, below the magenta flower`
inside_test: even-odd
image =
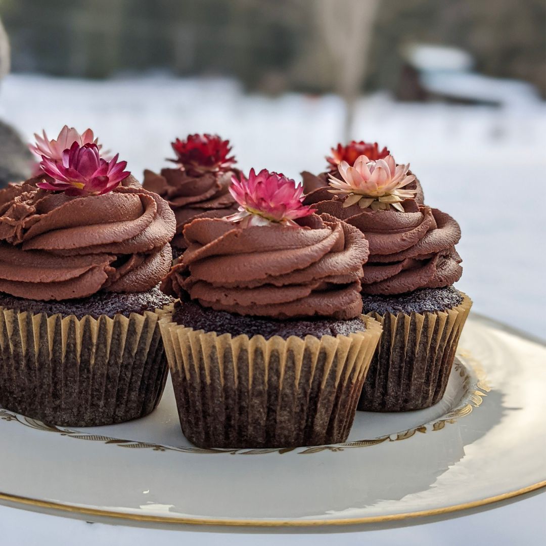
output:
[[[45,301],[146,292],[167,274],[176,224],[158,195],[134,179],[90,197],[36,180],[0,191],[0,292]]]

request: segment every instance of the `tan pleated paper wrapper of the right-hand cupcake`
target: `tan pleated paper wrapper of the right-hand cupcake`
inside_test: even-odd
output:
[[[446,311],[369,313],[383,334],[358,403],[361,411],[420,410],[444,395],[472,301]]]

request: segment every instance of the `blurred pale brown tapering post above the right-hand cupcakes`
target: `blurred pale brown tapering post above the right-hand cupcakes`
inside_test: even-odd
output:
[[[316,0],[324,41],[335,66],[335,90],[345,99],[343,138],[353,137],[355,107],[367,70],[379,0]]]

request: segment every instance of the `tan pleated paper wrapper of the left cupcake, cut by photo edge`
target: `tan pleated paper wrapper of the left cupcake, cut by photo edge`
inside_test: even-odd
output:
[[[78,319],[0,307],[0,406],[61,426],[144,417],[167,379],[164,313]]]

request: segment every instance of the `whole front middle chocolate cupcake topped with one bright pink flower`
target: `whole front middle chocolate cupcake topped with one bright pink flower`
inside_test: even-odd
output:
[[[283,175],[234,182],[240,212],[188,224],[160,321],[182,431],[200,447],[346,440],[381,328],[361,314],[367,243]]]

